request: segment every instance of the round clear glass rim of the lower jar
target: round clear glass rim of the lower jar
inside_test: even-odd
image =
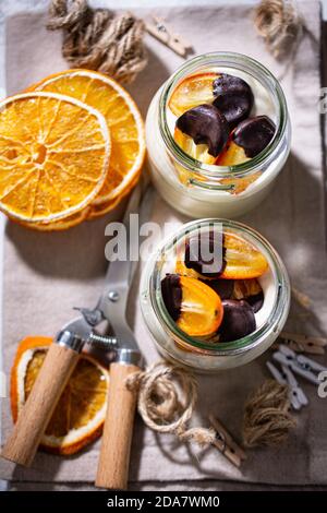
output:
[[[269,330],[271,330],[271,327],[274,329],[274,324],[278,322],[279,319],[282,317],[284,309],[289,308],[290,283],[286,267],[279,254],[261,234],[242,223],[222,218],[206,218],[199,220],[192,220],[190,223],[184,224],[178,232],[175,232],[173,236],[171,236],[168,240],[164,242],[162,247],[155,253],[154,261],[160,261],[162,259],[162,255],[168,252],[169,249],[178,244],[179,241],[185,236],[185,234],[190,235],[192,230],[195,231],[203,226],[208,226],[213,224],[220,224],[220,226],[222,225],[223,230],[228,228],[237,228],[243,231],[252,239],[254,239],[257,244],[263,246],[268,252],[274,264],[276,296],[271,312],[265,323],[255,332],[251,333],[250,335],[243,338],[239,338],[234,342],[217,343],[216,345],[213,345],[213,343],[205,343],[203,341],[199,341],[198,338],[186,335],[182,330],[178,327],[175,322],[171,319],[170,314],[168,313],[161,295],[161,274],[160,270],[157,269],[157,266],[155,266],[155,269],[153,270],[149,278],[149,299],[157,315],[157,319],[159,320],[166,333],[168,333],[171,338],[173,338],[174,341],[179,341],[184,345],[186,344],[191,347],[194,347],[195,349],[205,350],[211,356],[232,356],[253,349],[262,343],[263,338],[269,332]],[[284,290],[287,291],[287,294],[284,294]]]

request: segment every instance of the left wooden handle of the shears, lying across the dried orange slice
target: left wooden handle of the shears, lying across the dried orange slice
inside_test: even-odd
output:
[[[29,466],[41,437],[78,360],[78,353],[51,344],[1,456]]]

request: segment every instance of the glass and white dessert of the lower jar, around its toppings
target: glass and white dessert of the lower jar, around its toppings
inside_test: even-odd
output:
[[[256,330],[234,342],[213,343],[191,337],[169,315],[161,294],[161,279],[173,272],[175,255],[186,237],[198,230],[218,229],[242,237],[262,252],[268,271],[258,278],[264,302],[255,314]],[[217,372],[252,361],[278,337],[290,308],[290,283],[286,267],[270,246],[252,228],[232,220],[201,219],[183,225],[164,241],[147,260],[141,282],[140,301],[143,318],[159,353],[168,360],[199,372]]]

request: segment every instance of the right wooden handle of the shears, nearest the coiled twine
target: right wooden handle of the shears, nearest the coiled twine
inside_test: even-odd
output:
[[[111,490],[128,487],[130,452],[136,406],[136,392],[125,386],[136,366],[111,363],[109,398],[100,450],[96,486]]]

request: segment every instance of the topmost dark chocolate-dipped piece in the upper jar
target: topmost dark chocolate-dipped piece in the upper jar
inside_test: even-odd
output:
[[[253,93],[250,85],[239,76],[221,73],[214,81],[214,105],[226,117],[230,128],[237,127],[250,116],[253,107]]]

